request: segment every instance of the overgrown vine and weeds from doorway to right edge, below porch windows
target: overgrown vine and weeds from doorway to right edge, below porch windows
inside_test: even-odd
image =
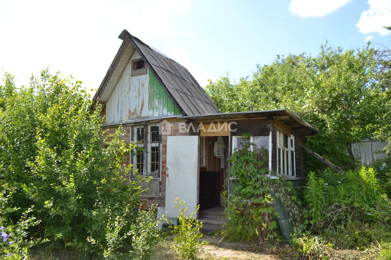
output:
[[[346,174],[331,169],[310,172],[302,203],[283,177],[265,175],[264,162],[256,160],[250,149],[250,137],[242,134],[241,148],[228,159],[231,193],[224,193],[227,223],[221,231],[227,240],[264,245],[280,242],[276,199],[288,211],[292,242],[300,244],[304,253],[313,246],[330,247],[327,241],[342,248],[364,248],[384,244],[391,237],[390,201],[373,168]]]

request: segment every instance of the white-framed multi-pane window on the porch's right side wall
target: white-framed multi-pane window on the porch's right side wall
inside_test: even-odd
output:
[[[278,132],[278,174],[295,176],[294,136]]]

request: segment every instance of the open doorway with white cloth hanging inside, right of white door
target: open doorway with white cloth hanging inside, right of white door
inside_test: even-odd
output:
[[[221,207],[228,136],[200,137],[199,210]]]

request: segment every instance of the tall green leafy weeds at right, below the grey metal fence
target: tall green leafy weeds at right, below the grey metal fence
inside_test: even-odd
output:
[[[333,240],[336,246],[361,247],[391,236],[391,205],[373,168],[331,170],[308,175],[304,199],[312,224],[308,232]]]

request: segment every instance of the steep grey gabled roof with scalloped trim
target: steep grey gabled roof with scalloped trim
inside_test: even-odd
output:
[[[129,34],[127,30],[123,30],[118,38],[123,40],[122,45],[93,98],[94,102],[105,91],[104,89],[117,64],[124,62],[121,61],[122,54],[124,54],[126,46],[131,43],[183,115],[194,116],[221,113],[208,94],[198,84],[197,80],[181,64],[143,43],[140,39]],[[126,58],[124,57],[123,59]],[[115,86],[113,85],[112,87]]]

